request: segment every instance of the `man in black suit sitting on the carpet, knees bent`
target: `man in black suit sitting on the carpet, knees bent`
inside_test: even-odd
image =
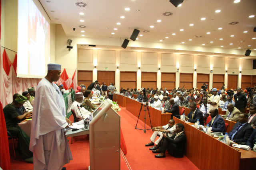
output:
[[[153,153],[159,153],[155,155],[156,158],[164,158],[165,151],[176,158],[181,158],[185,154],[186,148],[186,134],[184,132],[184,125],[182,123],[177,123],[176,125],[176,135],[169,137],[166,133],[163,133],[163,139],[161,143],[158,144],[159,148],[152,150]]]

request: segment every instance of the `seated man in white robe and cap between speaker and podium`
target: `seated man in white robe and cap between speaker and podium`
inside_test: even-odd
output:
[[[82,102],[83,102],[83,93],[82,92],[79,92],[79,93],[76,93],[75,94],[75,101],[73,102],[73,104],[71,105],[70,109],[72,111],[74,111],[74,113],[76,114],[76,117],[79,119],[79,120],[82,120],[82,117],[84,117],[84,119],[88,118],[89,115],[90,115],[90,111],[86,110],[83,105],[82,105]],[[80,108],[80,111],[78,109],[78,107]],[[81,115],[82,113],[82,115]]]

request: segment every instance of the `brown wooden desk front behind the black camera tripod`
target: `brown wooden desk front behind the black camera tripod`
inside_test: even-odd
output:
[[[141,103],[137,102],[136,100],[132,100],[130,98],[126,98],[126,109],[130,111],[133,115],[138,117],[138,114],[140,112]],[[140,112],[140,120],[144,122],[144,111]],[[163,126],[168,123],[168,121],[171,119],[172,113],[161,113],[160,110],[154,109],[153,107],[148,107],[149,113],[150,113],[150,119],[152,123],[152,127],[156,126]],[[148,119],[148,111],[146,113],[146,124],[150,126],[150,120]]]

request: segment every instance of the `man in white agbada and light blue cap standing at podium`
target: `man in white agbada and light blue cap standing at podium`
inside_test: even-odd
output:
[[[48,73],[36,88],[29,149],[34,169],[62,169],[72,160],[64,128],[72,122],[66,118],[60,88],[53,82],[60,78],[60,64],[48,64]]]

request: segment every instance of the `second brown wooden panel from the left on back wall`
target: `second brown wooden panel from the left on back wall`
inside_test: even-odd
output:
[[[103,82],[106,82],[106,85],[109,86],[110,83],[115,84],[116,72],[115,71],[98,71],[97,80],[100,82],[100,85]]]

